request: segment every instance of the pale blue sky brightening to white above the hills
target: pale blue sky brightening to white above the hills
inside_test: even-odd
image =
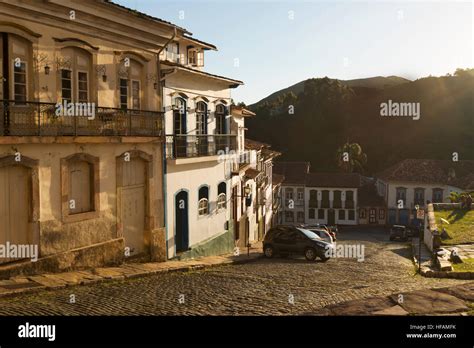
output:
[[[311,77],[414,80],[474,67],[472,1],[114,0],[212,43],[205,70],[255,103]]]

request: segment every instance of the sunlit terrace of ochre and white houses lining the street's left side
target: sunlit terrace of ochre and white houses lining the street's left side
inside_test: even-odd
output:
[[[1,2],[0,244],[61,271],[261,239],[279,153],[245,139],[255,114],[204,71],[215,50],[111,1]]]

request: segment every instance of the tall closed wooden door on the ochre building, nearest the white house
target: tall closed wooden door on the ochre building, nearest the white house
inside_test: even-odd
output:
[[[146,163],[141,158],[124,161],[120,194],[120,217],[125,247],[130,255],[145,251]]]

